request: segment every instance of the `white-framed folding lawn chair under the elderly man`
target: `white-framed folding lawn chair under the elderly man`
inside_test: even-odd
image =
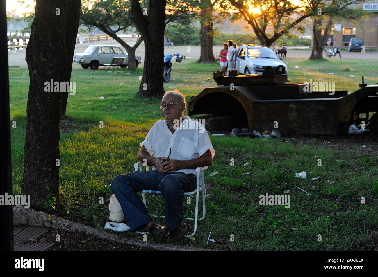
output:
[[[135,171],[141,171],[142,169],[142,162],[137,162],[134,164]],[[149,169],[149,166],[147,165],[146,170]],[[187,220],[194,220],[194,232],[191,235],[185,235],[185,237],[192,237],[195,232],[197,231],[197,222],[198,220],[203,220],[205,218],[205,194],[206,194],[206,188],[205,188],[205,182],[204,182],[204,177],[203,177],[203,171],[205,169],[208,169],[207,166],[200,166],[196,168],[196,175],[197,175],[197,189],[191,192],[184,192],[184,195],[193,195],[195,194],[195,214],[194,214],[194,219],[192,218],[185,218]],[[199,200],[199,193],[202,191],[202,211],[203,211],[203,216],[199,219],[198,218],[198,200]],[[143,203],[147,207],[146,204],[146,193],[154,193],[154,194],[161,194],[161,191],[149,191],[149,190],[143,190],[140,191],[142,193],[143,197]],[[159,216],[159,215],[154,215],[155,217],[164,217],[165,216]],[[148,232],[138,232],[139,234],[148,234]]]

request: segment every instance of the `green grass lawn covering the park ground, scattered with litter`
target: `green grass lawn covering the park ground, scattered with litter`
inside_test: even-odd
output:
[[[366,83],[377,83],[376,71],[370,70],[376,68],[375,60],[284,61],[291,82],[321,78],[334,81],[336,90],[349,92],[359,88],[361,75]],[[350,71],[344,71],[346,67]],[[212,71],[217,69],[218,64],[197,64],[189,59],[174,63],[171,82],[164,88],[173,86],[189,100],[206,86],[216,85]],[[115,175],[133,170],[139,143],[153,123],[163,119],[158,108],[160,98],[135,97],[143,68],[123,71],[115,75],[74,65],[71,81],[76,82],[76,94],[69,95],[67,104],[67,115],[72,118],[60,124],[65,132],[60,137],[60,203],[54,214],[99,229],[109,216],[108,202],[100,203],[100,197],[110,198],[108,185]],[[349,77],[351,74],[355,77]],[[28,69],[10,67],[9,81],[11,116],[17,126],[11,129],[16,194],[23,176]],[[100,128],[100,121],[104,128]],[[330,149],[316,139],[306,145],[238,137],[211,137],[211,141],[216,155],[205,171],[209,183],[206,217],[198,223],[195,240],[185,240],[186,245],[219,250],[281,250],[282,246],[355,250],[353,242],[376,229],[378,163],[361,148]],[[231,158],[235,159],[234,166],[230,165]],[[322,166],[317,165],[318,159],[322,159]],[[252,165],[244,167],[247,162]],[[307,172],[307,179],[294,177],[302,170]],[[218,174],[210,175],[212,172]],[[259,195],[282,194],[284,190],[291,191],[289,209],[259,205]],[[361,204],[361,196],[366,197],[365,204]],[[151,214],[164,215],[163,198],[147,195],[147,208]],[[185,202],[184,211],[186,217],[194,217],[193,198],[190,204]],[[164,224],[161,219],[157,222]],[[192,223],[190,228],[193,230]],[[206,245],[209,232],[218,242]],[[124,235],[143,238],[130,232]],[[232,235],[234,241],[230,241]]]

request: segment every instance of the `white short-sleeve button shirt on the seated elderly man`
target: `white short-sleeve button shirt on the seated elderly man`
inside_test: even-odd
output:
[[[150,155],[163,158],[168,157],[169,149],[172,148],[169,156],[171,160],[194,160],[208,150],[212,157],[215,155],[215,150],[204,126],[196,120],[191,120],[188,116],[183,118],[173,134],[169,130],[166,120],[155,122],[140,145],[146,147]],[[152,170],[156,170],[156,168],[153,166]],[[180,169],[174,172],[195,174],[195,168]]]

